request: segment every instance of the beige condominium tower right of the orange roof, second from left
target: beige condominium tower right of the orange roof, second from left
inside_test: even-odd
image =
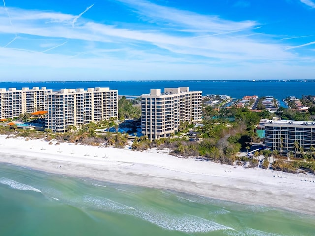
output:
[[[53,132],[109,118],[118,118],[117,90],[61,89],[48,95],[46,127]]]

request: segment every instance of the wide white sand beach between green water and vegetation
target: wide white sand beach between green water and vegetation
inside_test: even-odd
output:
[[[132,151],[0,135],[0,162],[51,173],[171,189],[238,203],[315,214],[315,176],[243,169],[168,150]]]

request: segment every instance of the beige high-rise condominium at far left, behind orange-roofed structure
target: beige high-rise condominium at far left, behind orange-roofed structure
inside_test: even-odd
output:
[[[49,93],[52,93],[52,89],[46,87],[0,89],[0,119],[15,118],[26,112],[46,111]]]

